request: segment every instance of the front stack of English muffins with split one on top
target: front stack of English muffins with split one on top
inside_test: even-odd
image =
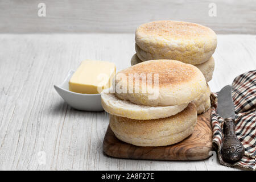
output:
[[[176,60],[144,61],[113,81],[113,88],[101,93],[102,107],[115,136],[136,146],[167,146],[191,135],[194,101],[208,90],[197,67]]]

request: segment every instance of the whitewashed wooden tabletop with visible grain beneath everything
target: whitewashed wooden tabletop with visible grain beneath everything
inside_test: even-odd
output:
[[[234,170],[213,160],[110,158],[102,152],[108,114],[72,109],[53,89],[84,59],[130,66],[134,34],[0,34],[0,169]],[[255,35],[218,35],[216,92],[256,69]],[[44,158],[45,157],[45,158]]]

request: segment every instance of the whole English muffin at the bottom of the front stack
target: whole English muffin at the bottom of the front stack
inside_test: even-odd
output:
[[[197,122],[196,106],[167,118],[137,120],[110,115],[110,128],[115,137],[135,146],[167,146],[180,142],[193,133]]]

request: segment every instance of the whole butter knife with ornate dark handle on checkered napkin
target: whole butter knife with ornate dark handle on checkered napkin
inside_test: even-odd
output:
[[[242,143],[236,135],[236,124],[234,122],[234,103],[232,99],[232,86],[226,85],[218,93],[217,114],[224,118],[221,155],[225,162],[235,163],[245,153]]]

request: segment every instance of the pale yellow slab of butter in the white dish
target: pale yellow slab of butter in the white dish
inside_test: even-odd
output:
[[[112,85],[115,64],[108,61],[85,60],[69,80],[69,90],[96,94]]]

